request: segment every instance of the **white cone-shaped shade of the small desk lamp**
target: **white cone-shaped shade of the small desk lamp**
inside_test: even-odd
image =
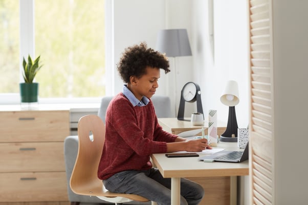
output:
[[[229,80],[221,97],[221,102],[227,106],[235,106],[239,103],[238,85],[234,80]]]

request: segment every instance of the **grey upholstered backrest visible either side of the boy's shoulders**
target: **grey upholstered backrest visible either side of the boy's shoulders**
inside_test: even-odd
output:
[[[98,116],[105,122],[106,110],[109,102],[112,100],[112,96],[105,96],[101,100],[100,108],[98,110]],[[151,98],[155,107],[156,116],[158,118],[172,118],[171,116],[171,101],[168,96],[156,96]],[[174,116],[173,116],[174,117]]]

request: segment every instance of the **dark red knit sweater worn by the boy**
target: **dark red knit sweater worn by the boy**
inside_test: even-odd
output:
[[[124,170],[150,169],[150,154],[166,152],[166,142],[177,138],[162,130],[151,100],[146,106],[134,107],[122,93],[109,103],[105,126],[105,143],[98,167],[100,179]]]

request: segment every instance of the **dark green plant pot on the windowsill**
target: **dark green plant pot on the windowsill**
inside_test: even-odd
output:
[[[21,102],[37,102],[38,83],[20,83]]]

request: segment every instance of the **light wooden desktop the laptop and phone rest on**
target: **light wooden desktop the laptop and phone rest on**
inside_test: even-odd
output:
[[[217,148],[244,151],[244,149],[237,148],[237,143],[219,142]],[[198,161],[199,157],[167,158],[165,154],[152,154],[151,158],[163,177],[243,176],[249,174],[248,160],[241,163],[205,163]]]

